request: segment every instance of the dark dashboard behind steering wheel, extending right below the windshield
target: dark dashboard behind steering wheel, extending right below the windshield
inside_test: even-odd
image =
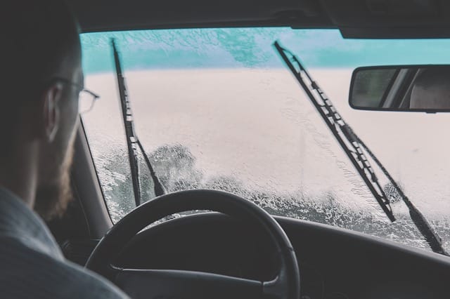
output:
[[[450,298],[450,258],[337,227],[275,217],[292,242],[302,299]],[[267,281],[274,248],[257,227],[219,213],[143,230],[114,264],[211,272]]]

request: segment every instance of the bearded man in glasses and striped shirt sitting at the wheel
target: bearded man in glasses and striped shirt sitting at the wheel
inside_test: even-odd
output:
[[[41,220],[70,198],[83,88],[77,22],[59,0],[1,4],[0,297],[125,298],[66,261]]]

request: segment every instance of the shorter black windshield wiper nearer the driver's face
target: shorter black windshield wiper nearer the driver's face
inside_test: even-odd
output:
[[[122,117],[124,120],[125,135],[127,137],[128,160],[131,169],[131,180],[133,182],[134,202],[136,206],[141,205],[141,185],[139,183],[139,164],[138,164],[138,148],[141,150],[150,176],[153,180],[155,196],[159,197],[166,193],[165,187],[160,182],[158,175],[156,175],[150,159],[143,149],[141,141],[139,141],[136,131],[134,131],[133,114],[131,114],[131,105],[128,98],[127,88],[125,86],[125,78],[122,74],[122,64],[120,63],[119,53],[115,45],[114,39],[111,39],[111,46],[113,47],[115,72],[117,74],[117,85],[120,93],[120,106],[122,107]]]

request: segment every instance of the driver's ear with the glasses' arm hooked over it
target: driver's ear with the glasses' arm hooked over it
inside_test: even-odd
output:
[[[47,142],[55,140],[60,123],[60,98],[63,94],[62,84],[53,84],[44,91],[43,95],[43,133]]]

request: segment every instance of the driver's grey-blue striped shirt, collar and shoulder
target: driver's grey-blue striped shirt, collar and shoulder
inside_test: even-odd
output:
[[[127,298],[65,260],[45,223],[0,187],[0,298]]]

